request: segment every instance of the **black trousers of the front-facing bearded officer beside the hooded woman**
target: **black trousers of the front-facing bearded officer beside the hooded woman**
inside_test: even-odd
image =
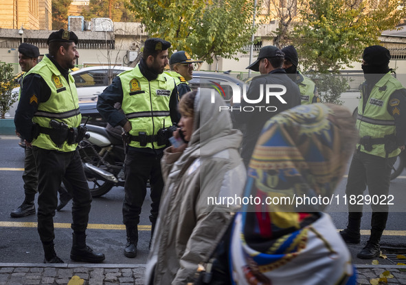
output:
[[[150,222],[156,222],[159,202],[163,189],[161,158],[163,154],[148,154],[139,151],[128,151],[125,160],[126,183],[123,203],[123,223],[133,227],[139,223],[139,214],[146,196],[146,182],[150,178],[153,201],[150,211]]]

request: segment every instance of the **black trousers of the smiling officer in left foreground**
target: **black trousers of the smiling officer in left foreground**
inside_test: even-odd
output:
[[[54,215],[58,205],[56,192],[65,179],[73,199],[72,224],[75,232],[84,232],[89,221],[91,193],[80,160],[79,152],[61,152],[33,147],[38,171],[38,233],[41,242],[54,240]]]

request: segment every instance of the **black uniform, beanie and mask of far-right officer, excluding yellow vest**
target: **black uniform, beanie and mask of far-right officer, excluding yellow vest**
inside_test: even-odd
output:
[[[367,47],[365,48],[363,59],[368,63],[368,65],[363,65],[364,76],[367,80],[361,85],[363,92],[360,99],[363,100],[363,108],[365,109],[372,88],[389,72],[390,53],[381,46]],[[391,114],[394,118],[396,146],[405,145],[406,89],[398,89],[390,94],[390,98],[382,98],[382,100],[389,102],[387,104],[387,114]],[[373,120],[374,118],[371,119]],[[368,154],[365,151],[361,151],[361,149],[355,151],[348,171],[346,186],[346,194],[349,200],[348,225],[345,230],[340,232],[343,240],[346,242],[355,244],[360,242],[359,231],[363,207],[358,201],[359,197],[363,196],[366,187],[368,186],[368,192],[371,197],[387,197],[390,187],[390,173],[395,160],[396,157],[383,158],[374,154]],[[357,199],[350,200],[351,197],[356,197]],[[371,235],[367,245],[358,253],[357,257],[359,258],[370,259],[380,254],[379,243],[388,218],[388,206],[384,201],[382,202],[382,204],[381,202],[371,204]]]

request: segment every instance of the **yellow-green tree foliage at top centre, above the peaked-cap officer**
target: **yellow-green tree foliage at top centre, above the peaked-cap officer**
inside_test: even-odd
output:
[[[131,0],[129,8],[150,36],[207,63],[236,59],[251,43],[253,0]]]

